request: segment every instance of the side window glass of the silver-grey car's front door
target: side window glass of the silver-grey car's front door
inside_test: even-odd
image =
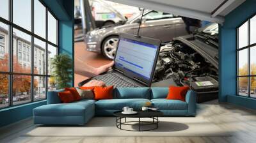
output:
[[[160,11],[151,11],[147,15],[143,16],[145,20],[159,20],[159,19],[170,19],[173,17],[172,14],[164,13]]]

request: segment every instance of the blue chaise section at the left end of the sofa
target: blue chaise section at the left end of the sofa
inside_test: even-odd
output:
[[[34,110],[35,124],[85,124],[95,114],[94,100],[47,104]]]

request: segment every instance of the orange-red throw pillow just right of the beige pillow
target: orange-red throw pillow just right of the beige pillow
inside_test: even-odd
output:
[[[101,87],[96,86],[94,87],[94,99],[95,100],[106,100],[106,99],[113,99],[113,87],[114,86],[108,86],[108,87]]]

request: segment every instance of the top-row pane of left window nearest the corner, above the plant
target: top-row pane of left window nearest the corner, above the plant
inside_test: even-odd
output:
[[[57,20],[48,11],[48,40],[57,45]]]

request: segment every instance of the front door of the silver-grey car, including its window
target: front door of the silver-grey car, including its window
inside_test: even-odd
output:
[[[150,11],[143,15],[143,22],[140,27],[140,35],[170,41],[175,37],[175,26],[173,15],[161,11]]]

